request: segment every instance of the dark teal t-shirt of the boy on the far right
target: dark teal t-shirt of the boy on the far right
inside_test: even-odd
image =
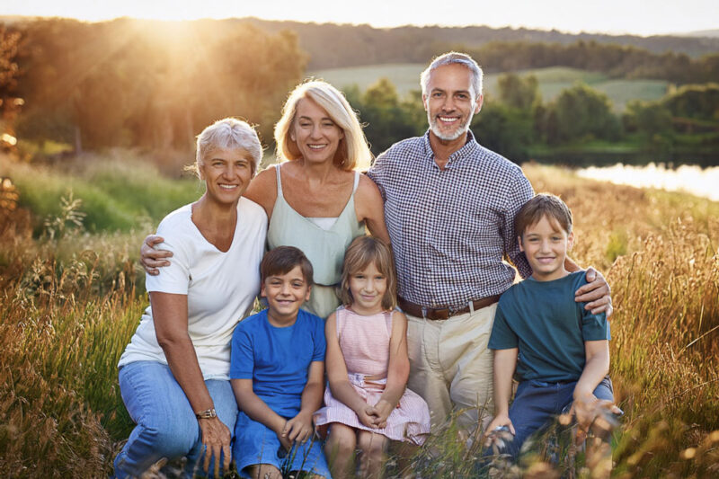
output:
[[[500,297],[488,347],[519,348],[519,381],[576,381],[586,362],[584,342],[610,339],[607,316],[592,315],[574,301],[574,292],[587,283],[584,274],[528,278]]]

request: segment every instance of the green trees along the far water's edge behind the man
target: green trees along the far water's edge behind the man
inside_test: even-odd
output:
[[[472,129],[484,146],[516,162],[547,148],[581,149],[598,141],[664,153],[719,147],[719,84],[672,87],[661,100],[629,102],[622,114],[614,111],[605,93],[587,84],[574,84],[553,101],[543,102],[535,76],[509,73],[499,77],[497,90],[495,97],[485,98]],[[355,86],[346,94],[368,126],[365,131],[375,155],[427,129],[419,91],[401,99],[383,78],[365,92]]]

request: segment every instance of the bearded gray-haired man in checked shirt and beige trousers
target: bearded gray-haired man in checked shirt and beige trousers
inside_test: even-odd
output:
[[[464,411],[460,425],[472,429],[480,414],[493,414],[487,342],[497,300],[515,277],[502,259],[508,256],[522,278],[531,274],[513,221],[534,191],[519,166],[469,131],[484,100],[474,59],[446,53],[421,83],[429,131],[379,155],[368,176],[385,200],[399,304],[409,320],[408,386],[430,405],[433,427]],[[610,312],[608,285],[597,279],[577,300]]]

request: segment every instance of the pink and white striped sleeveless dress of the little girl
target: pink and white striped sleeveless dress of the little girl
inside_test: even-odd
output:
[[[337,310],[335,321],[337,339],[351,385],[368,404],[377,404],[386,384],[392,312],[363,316],[341,307]],[[383,379],[365,381],[365,377]],[[383,434],[389,439],[422,445],[425,435],[430,432],[430,410],[422,397],[405,389],[399,404],[387,418],[386,427],[372,429],[359,422],[357,414],[336,400],[327,387],[324,391],[324,407],[315,412],[315,424],[321,426],[331,422],[342,422],[351,428]]]

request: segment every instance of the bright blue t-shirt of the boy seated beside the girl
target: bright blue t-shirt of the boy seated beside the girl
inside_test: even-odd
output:
[[[324,361],[324,321],[299,310],[297,321],[278,328],[267,309],[237,324],[232,335],[231,379],[252,379],[253,391],[284,418],[299,412],[310,363]]]

